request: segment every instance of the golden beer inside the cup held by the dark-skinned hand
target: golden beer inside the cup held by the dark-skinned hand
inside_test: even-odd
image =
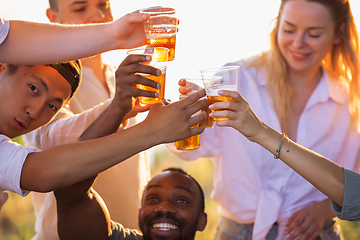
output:
[[[139,97],[140,103],[142,103],[142,104],[153,104],[153,103],[161,103],[161,102],[163,102],[164,101],[164,93],[165,93],[166,73],[161,74],[161,76],[154,76],[154,75],[143,74],[143,73],[138,73],[138,74],[161,84],[160,89],[155,89],[155,88],[152,88],[152,87],[144,86],[142,84],[136,84],[136,87],[141,89],[141,90],[146,90],[146,91],[152,91],[152,92],[159,93],[159,96],[157,98]]]

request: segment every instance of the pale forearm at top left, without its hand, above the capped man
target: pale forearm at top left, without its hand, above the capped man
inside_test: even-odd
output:
[[[9,35],[0,44],[0,62],[49,64],[80,59],[114,48],[108,23],[81,27],[54,25],[10,21]]]

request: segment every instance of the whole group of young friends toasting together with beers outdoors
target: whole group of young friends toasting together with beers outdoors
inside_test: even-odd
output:
[[[341,239],[334,217],[360,219],[359,37],[348,0],[282,0],[269,50],[225,64],[239,66],[238,90],[219,94],[235,101],[210,115],[231,120],[206,129],[197,126],[206,114],[194,114],[204,90],[140,106],[136,97],[156,93],[136,84],[160,88],[135,74],[161,74],[142,64],[150,59],[102,61],[146,44],[147,14],[114,21],[108,0],[49,5],[53,24],[0,19],[0,190],[33,192],[34,240],[194,239],[207,223],[203,190],[179,168],[150,178],[146,150],[158,144],[212,159],[216,240]],[[197,134],[198,149],[175,148]]]

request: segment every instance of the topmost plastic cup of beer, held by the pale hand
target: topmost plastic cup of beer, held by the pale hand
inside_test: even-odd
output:
[[[150,7],[140,10],[148,13],[150,18],[144,22],[147,44],[154,47],[165,47],[170,50],[168,61],[175,58],[175,43],[178,19],[176,10],[171,7]]]

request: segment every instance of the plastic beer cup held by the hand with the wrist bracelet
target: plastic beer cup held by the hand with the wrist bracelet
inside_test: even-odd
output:
[[[209,105],[216,102],[235,101],[233,98],[220,96],[218,91],[237,91],[238,70],[239,66],[225,66],[222,68],[204,69],[200,71]],[[230,118],[214,117],[213,119],[215,121],[221,121]]]

